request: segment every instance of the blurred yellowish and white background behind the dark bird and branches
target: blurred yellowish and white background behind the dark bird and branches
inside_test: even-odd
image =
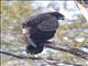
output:
[[[30,15],[50,11],[58,11],[65,15],[54,36],[59,46],[69,45],[88,53],[88,22],[75,1],[1,1],[0,50],[21,55],[25,50],[25,44],[20,40],[22,21]],[[50,64],[45,61],[18,59],[1,55],[0,64],[1,66],[67,66],[68,64],[62,63],[65,62],[88,66],[88,62],[82,58],[51,48],[44,48],[40,56],[59,61],[56,64]]]

